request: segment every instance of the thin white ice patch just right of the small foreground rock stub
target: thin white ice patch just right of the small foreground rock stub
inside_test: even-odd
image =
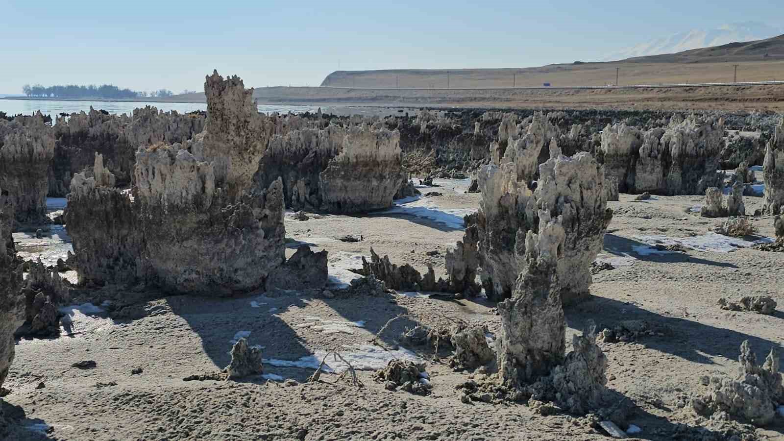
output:
[[[398,348],[395,351],[388,351],[372,344],[346,344],[343,348],[347,351],[340,351],[340,355],[346,359],[355,370],[379,370],[387,366],[393,359],[410,361],[416,364],[423,364],[425,360],[419,358],[414,352],[405,348]],[[327,352],[317,351],[313,355],[306,355],[297,360],[263,359],[263,363],[279,367],[299,367],[301,369],[318,369],[321,359]],[[337,357],[328,357],[325,366],[321,369],[324,372],[339,374],[348,369],[348,365]]]

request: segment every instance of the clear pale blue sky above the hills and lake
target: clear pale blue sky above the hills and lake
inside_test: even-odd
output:
[[[0,92],[201,90],[213,68],[245,86],[318,86],[338,60],[342,70],[531,67],[739,21],[781,28],[784,2],[0,0]]]

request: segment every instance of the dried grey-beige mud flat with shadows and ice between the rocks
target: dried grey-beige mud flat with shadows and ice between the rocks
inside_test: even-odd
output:
[[[420,271],[433,264],[444,275],[445,250],[463,237],[460,219],[476,210],[480,195],[464,194],[462,182],[442,184],[420,189],[441,196],[398,202],[363,217],[296,221],[287,214],[287,237],[293,239],[287,256],[299,242],[328,250],[333,286],[352,277],[346,268],[361,268],[358,256],[369,256],[370,247]],[[709,231],[721,219],[694,211],[703,203],[700,196],[620,199],[608,202],[615,215],[599,256],[615,269],[593,275],[592,297],[565,309],[567,342],[592,325],[642,324],[644,332],[633,341],[599,343],[608,355],[608,387],[637,405],[629,421],[642,432],[633,436],[699,439],[688,399],[704,392],[700,377],[734,374],[742,341],[758,359],[773,346],[784,347],[781,311],[727,312],[717,301],[770,295],[784,304],[784,253],[748,247],[774,235],[771,217],[753,218],[759,238],[728,240]],[[746,198],[750,212],[760,205],[761,198]],[[345,235],[362,240],[341,242]],[[673,239],[683,239],[678,243],[685,252],[655,248]],[[68,310],[59,338],[18,342],[3,406],[6,414],[24,411],[27,428],[11,439],[607,438],[583,418],[544,416],[524,405],[461,403],[456,385],[482,374],[454,372],[443,353],[438,360],[429,349],[398,346],[406,329],[439,320],[463,319],[498,333],[494,305],[481,298],[325,297],[285,290],[231,299],[156,294],[99,291],[103,307]],[[403,317],[385,326],[398,315]],[[263,346],[263,376],[183,381],[219,373],[238,337]],[[321,382],[305,383],[313,363],[331,350],[347,356],[365,387],[335,383],[338,375],[326,373]],[[368,369],[394,356],[426,361],[430,395],[390,392],[373,381]],[[72,366],[89,360],[92,369]],[[331,358],[328,363],[339,368]],[[784,417],[777,421],[750,435],[782,439]]]

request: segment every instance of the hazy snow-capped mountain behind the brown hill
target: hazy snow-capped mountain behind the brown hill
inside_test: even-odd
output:
[[[605,58],[606,60],[623,60],[633,56],[677,53],[689,49],[726,45],[731,42],[762,40],[782,33],[784,33],[784,29],[781,27],[752,21],[724,24],[716,29],[693,29],[670,35],[670,37],[657,38],[651,42],[641,43],[637,46],[610,53]]]

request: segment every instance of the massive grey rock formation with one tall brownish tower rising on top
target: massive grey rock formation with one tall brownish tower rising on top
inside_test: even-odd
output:
[[[274,124],[238,77],[216,72],[205,93],[205,133],[190,151],[140,148],[132,191],[74,176],[65,218],[80,283],[225,296],[265,286],[285,261],[281,180],[252,190]]]

